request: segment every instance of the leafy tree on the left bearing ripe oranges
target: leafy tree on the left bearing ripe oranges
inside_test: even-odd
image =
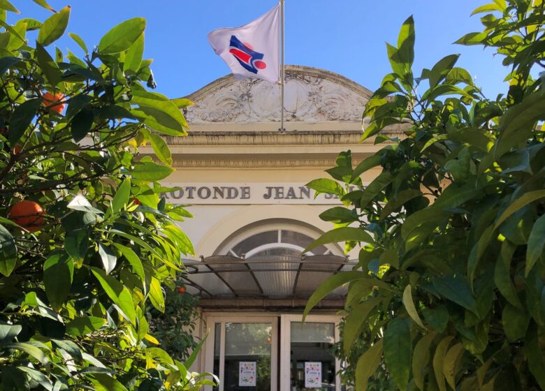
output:
[[[211,383],[187,370],[194,356],[173,360],[148,333],[147,304],[163,311],[163,286],[193,249],[176,223],[189,214],[158,182],[173,172],[160,133],[186,134],[189,102],[145,87],[145,20],[92,51],[70,34],[78,58],[52,48],[70,7],[14,25],[15,7],[0,8],[0,390]],[[136,158],[145,142],[160,163]]]

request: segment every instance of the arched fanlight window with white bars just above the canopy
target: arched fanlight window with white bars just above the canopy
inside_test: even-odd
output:
[[[261,222],[231,235],[216,254],[247,259],[267,256],[299,257],[320,234],[318,230],[291,221]],[[318,246],[306,255],[337,255],[339,252],[335,245]]]

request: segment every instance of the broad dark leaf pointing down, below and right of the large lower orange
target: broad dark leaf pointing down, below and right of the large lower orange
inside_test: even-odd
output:
[[[61,309],[70,293],[74,263],[66,253],[56,253],[43,264],[43,284],[51,307]]]

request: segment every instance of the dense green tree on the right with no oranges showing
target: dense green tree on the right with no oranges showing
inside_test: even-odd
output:
[[[306,309],[349,283],[344,356],[368,339],[351,361],[357,390],[379,366],[400,390],[545,389],[544,3],[495,0],[474,13],[484,31],[458,43],[497,50],[507,94],[486,98],[458,55],[416,77],[409,18],[365,106],[363,139],[387,145],[356,168],[344,152],[333,179],[310,183],[344,202],[321,214],[337,227],[310,248],[363,243],[355,270]],[[392,124],[402,140],[379,133]]]

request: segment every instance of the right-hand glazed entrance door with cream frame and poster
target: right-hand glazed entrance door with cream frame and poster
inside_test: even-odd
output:
[[[339,340],[336,316],[282,315],[280,344],[280,390],[340,391],[333,355]]]

